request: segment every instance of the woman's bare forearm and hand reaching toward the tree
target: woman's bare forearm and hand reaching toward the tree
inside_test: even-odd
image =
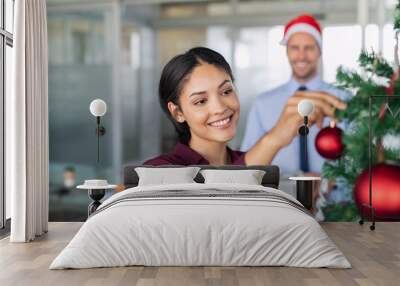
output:
[[[314,112],[308,117],[308,126],[322,127],[326,116],[335,118],[335,109],[346,109],[346,104],[325,92],[298,91],[287,101],[275,126],[246,153],[246,165],[269,165],[280,149],[289,145],[298,135],[304,118],[297,112],[297,105],[303,99],[314,103]]]

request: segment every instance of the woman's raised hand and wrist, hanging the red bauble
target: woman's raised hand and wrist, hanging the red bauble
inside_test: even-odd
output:
[[[297,105],[303,99],[309,99],[314,103],[314,112],[308,118],[308,126],[317,124],[321,128],[326,116],[336,121],[335,109],[344,110],[347,107],[346,103],[326,92],[297,91],[289,98],[278,122],[270,131],[273,135],[271,137],[280,148],[292,142],[303,124],[304,118],[297,112]]]

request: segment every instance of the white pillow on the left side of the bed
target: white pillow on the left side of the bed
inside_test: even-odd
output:
[[[196,183],[193,179],[199,170],[199,167],[135,168],[139,176],[138,186]]]

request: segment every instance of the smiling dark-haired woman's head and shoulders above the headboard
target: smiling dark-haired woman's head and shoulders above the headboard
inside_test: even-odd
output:
[[[240,114],[233,81],[229,64],[211,49],[193,48],[174,57],[162,72],[159,99],[179,143],[173,153],[145,164],[244,165],[244,153],[226,146]]]

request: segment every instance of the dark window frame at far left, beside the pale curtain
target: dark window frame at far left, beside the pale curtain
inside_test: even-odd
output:
[[[12,2],[12,17],[14,22],[15,0]],[[13,48],[13,33],[6,30],[6,0],[0,0],[0,236],[9,231],[10,222],[6,218],[6,190],[5,190],[5,93],[6,93],[6,47]],[[8,15],[9,16],[9,15]],[[14,28],[14,27],[13,27]],[[14,29],[12,29],[14,30]]]

